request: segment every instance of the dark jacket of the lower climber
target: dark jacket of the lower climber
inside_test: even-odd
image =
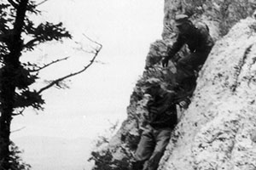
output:
[[[185,99],[187,96],[183,96]],[[148,101],[148,123],[154,128],[175,127],[177,124],[176,105],[181,98],[176,93],[160,90],[160,93]]]

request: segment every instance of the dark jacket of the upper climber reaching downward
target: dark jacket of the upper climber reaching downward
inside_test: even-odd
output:
[[[209,34],[207,25],[198,23],[192,26],[191,30],[185,34],[178,34],[176,42],[168,48],[169,59],[176,54],[184,44],[187,44],[191,53],[209,53],[214,45]]]

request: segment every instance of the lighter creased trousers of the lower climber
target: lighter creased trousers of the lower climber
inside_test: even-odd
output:
[[[143,132],[140,140],[135,159],[137,162],[145,162],[143,170],[156,170],[169,143],[172,128],[154,129],[148,127]],[[139,170],[139,169],[137,169]]]

